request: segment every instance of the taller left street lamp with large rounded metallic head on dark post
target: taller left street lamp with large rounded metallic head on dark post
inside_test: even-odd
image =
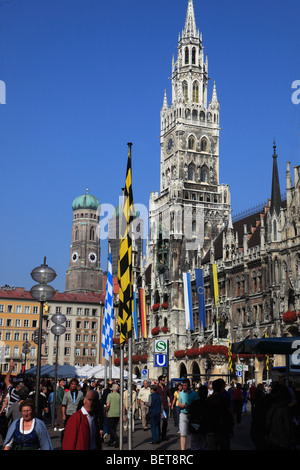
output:
[[[44,264],[34,268],[31,272],[31,277],[34,281],[38,282],[30,290],[31,297],[40,302],[40,317],[39,317],[39,334],[38,334],[38,354],[37,354],[37,367],[36,367],[36,390],[35,390],[35,406],[36,413],[39,416],[39,395],[40,395],[40,375],[41,375],[41,357],[42,357],[42,323],[44,303],[51,300],[55,294],[52,286],[48,286],[48,282],[52,282],[56,278],[54,269],[49,268],[46,264],[46,257]]]

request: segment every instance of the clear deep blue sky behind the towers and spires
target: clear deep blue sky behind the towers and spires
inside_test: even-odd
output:
[[[281,190],[300,163],[298,0],[194,0],[220,101],[220,183],[233,214]],[[0,0],[0,285],[30,289],[44,256],[63,291],[72,201],[117,204],[127,142],[133,192],[159,190],[160,109],[187,0]],[[106,269],[106,245],[102,267]]]

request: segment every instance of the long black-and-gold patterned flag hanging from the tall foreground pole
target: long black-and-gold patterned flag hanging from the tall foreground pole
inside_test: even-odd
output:
[[[128,162],[125,188],[123,192],[123,207],[120,212],[120,251],[118,263],[119,279],[119,316],[118,327],[120,345],[123,346],[132,332],[133,273],[132,273],[132,221],[134,214],[131,175],[131,146],[128,144]]]

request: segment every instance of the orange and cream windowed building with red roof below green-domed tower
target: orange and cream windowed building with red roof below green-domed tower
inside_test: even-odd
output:
[[[14,373],[20,373],[25,365],[23,343],[30,343],[26,357],[26,369],[36,365],[37,344],[35,331],[39,327],[39,302],[32,299],[23,288],[0,290],[0,341],[4,348],[2,373],[8,371],[9,361],[15,362]],[[58,363],[91,366],[103,363],[101,339],[104,314],[104,294],[56,292],[43,312],[43,335],[41,364],[54,364],[56,339],[51,333],[52,315],[66,316],[66,331],[58,342]]]

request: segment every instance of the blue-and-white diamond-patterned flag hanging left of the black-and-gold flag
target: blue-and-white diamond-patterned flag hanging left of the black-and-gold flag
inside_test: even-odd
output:
[[[112,263],[111,263],[111,251],[109,246],[108,253],[108,270],[107,270],[107,282],[105,292],[105,308],[104,308],[104,322],[102,330],[102,348],[103,357],[109,360],[109,357],[113,353],[113,277],[112,277]]]

